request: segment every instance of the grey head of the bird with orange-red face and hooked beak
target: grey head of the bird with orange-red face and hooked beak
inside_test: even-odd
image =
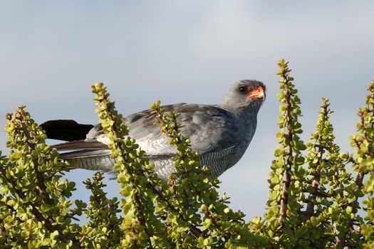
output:
[[[251,109],[259,111],[266,97],[266,87],[258,80],[240,80],[232,85],[222,106],[230,110]]]

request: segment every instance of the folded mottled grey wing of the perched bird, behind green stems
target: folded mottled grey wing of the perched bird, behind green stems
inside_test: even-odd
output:
[[[182,136],[189,137],[192,149],[200,154],[233,147],[241,139],[234,115],[218,106],[181,103],[162,108],[165,112],[180,113],[178,122],[182,125]],[[125,117],[123,121],[130,127],[129,137],[151,157],[175,154],[177,150],[169,144],[170,139],[162,134],[160,126],[154,124],[155,114],[151,112],[144,110]],[[108,143],[100,124],[88,132],[85,142]]]

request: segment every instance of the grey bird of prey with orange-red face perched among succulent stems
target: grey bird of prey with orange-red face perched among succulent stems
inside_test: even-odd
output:
[[[165,105],[165,112],[178,112],[182,136],[189,137],[191,147],[199,152],[200,164],[211,168],[212,177],[237,164],[243,156],[257,125],[257,113],[265,100],[266,87],[257,80],[240,80],[232,85],[219,105],[180,103]],[[123,119],[130,127],[129,136],[136,140],[155,172],[164,180],[175,172],[177,149],[162,134],[151,110],[144,110]],[[65,142],[54,147],[73,168],[113,171],[114,160],[107,147],[108,137],[100,124],[78,124],[73,120],[51,120],[41,124],[47,137]]]

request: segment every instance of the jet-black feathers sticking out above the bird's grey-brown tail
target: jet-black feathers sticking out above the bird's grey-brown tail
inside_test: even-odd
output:
[[[78,124],[74,120],[50,120],[40,125],[49,139],[76,141],[85,139],[85,135],[93,128],[92,124]]]

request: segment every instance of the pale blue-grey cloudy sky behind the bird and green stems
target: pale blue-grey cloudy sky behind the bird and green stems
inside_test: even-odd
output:
[[[24,104],[38,124],[73,119],[96,124],[90,85],[104,82],[123,115],[161,100],[217,104],[232,83],[266,84],[266,102],[244,157],[219,180],[230,206],[261,216],[277,147],[277,61],[289,60],[308,141],[321,97],[343,152],[353,152],[358,107],[374,75],[373,1],[0,1],[0,117]],[[6,134],[0,150],[6,154]],[[88,201],[66,174],[73,198]],[[106,181],[108,196],[119,196]]]

